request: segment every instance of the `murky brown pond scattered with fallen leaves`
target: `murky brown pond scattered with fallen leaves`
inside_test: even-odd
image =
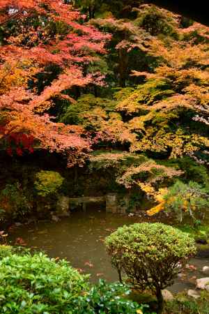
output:
[[[58,222],[39,221],[20,225],[10,230],[10,244],[22,244],[26,247],[45,251],[50,257],[66,258],[72,267],[83,274],[91,274],[91,281],[99,278],[118,281],[115,269],[111,267],[109,256],[104,248],[104,238],[118,227],[144,220],[139,216],[127,216],[106,213],[103,210],[88,209],[86,213],[75,211],[70,217]],[[194,288],[195,279],[204,277],[203,266],[209,266],[209,260],[194,258],[181,277],[169,287],[171,292],[180,292]]]

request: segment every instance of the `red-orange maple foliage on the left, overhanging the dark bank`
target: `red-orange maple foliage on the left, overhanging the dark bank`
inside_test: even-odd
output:
[[[105,52],[109,34],[84,24],[63,1],[3,0],[0,11],[6,33],[0,48],[0,144],[10,155],[33,152],[38,144],[67,154],[68,165],[81,163],[91,147],[84,129],[58,124],[46,112],[54,97],[73,101],[66,89],[102,84],[100,73],[84,75],[83,68]],[[30,90],[29,79],[49,64],[59,66],[60,74],[41,93]]]

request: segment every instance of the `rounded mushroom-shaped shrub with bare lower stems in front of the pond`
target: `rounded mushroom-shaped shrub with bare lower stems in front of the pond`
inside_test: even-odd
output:
[[[151,290],[162,313],[164,288],[173,283],[180,266],[196,252],[194,239],[162,223],[136,223],[118,228],[105,240],[111,262],[122,281],[125,273],[140,290]]]

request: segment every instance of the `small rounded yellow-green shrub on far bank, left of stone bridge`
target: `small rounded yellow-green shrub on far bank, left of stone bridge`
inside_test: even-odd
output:
[[[63,180],[59,172],[41,170],[36,174],[34,185],[38,195],[46,197],[52,193],[57,193]]]

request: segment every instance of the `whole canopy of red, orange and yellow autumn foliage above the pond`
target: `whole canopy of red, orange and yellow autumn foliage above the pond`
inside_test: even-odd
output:
[[[109,168],[155,214],[193,179],[179,160],[208,171],[209,29],[143,1],[69,2],[1,1],[1,148]]]

